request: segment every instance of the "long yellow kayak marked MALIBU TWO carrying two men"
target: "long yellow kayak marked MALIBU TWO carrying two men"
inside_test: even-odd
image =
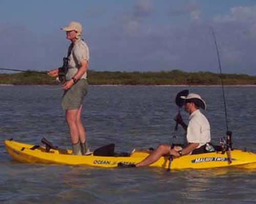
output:
[[[124,164],[136,164],[146,158],[150,151],[133,150],[131,153],[114,156],[75,156],[72,150],[66,149],[48,149],[45,146],[34,146],[5,140],[5,148],[8,154],[16,161],[24,163],[46,163],[46,164],[68,164],[68,165],[89,165],[95,167],[113,168],[117,167],[119,162]],[[256,154],[250,151],[239,149],[231,150],[231,163],[228,162],[226,152],[221,151],[208,152],[198,155],[186,155],[180,158],[174,158],[170,163],[170,169],[206,169],[236,166],[241,168],[256,168]],[[161,157],[157,162],[150,165],[153,167],[168,168],[169,157]]]

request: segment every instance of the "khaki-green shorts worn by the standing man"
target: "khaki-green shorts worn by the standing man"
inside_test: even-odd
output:
[[[79,109],[83,103],[83,98],[88,93],[88,83],[87,80],[81,79],[76,84],[74,84],[69,90],[65,91],[62,96],[62,109],[72,110]]]

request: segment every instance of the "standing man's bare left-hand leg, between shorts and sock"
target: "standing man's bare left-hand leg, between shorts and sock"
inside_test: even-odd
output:
[[[72,144],[77,144],[79,142],[79,131],[77,126],[77,113],[78,110],[67,110],[66,111],[66,121],[69,126],[70,139]]]

